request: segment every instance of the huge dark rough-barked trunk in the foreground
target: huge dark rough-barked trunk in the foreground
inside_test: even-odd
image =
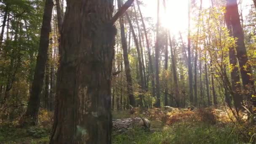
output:
[[[113,0],[68,0],[51,144],[110,144]]]

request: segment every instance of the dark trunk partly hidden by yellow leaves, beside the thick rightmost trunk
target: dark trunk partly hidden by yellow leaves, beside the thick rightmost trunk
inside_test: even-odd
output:
[[[225,13],[224,15],[225,15],[227,29],[229,30],[229,36],[232,37],[232,24],[229,19],[229,13]],[[232,83],[232,91],[234,93],[232,96],[235,104],[235,109],[238,112],[242,108],[243,97],[241,93],[242,91],[241,91],[241,84],[240,84],[240,75],[239,75],[236,52],[234,47],[229,48],[229,63],[232,66],[231,83]],[[230,101],[230,100],[227,99],[227,101]]]

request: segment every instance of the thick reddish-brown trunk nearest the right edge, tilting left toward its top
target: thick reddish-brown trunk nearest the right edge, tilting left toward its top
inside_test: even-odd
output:
[[[239,62],[241,77],[243,81],[243,87],[245,94],[247,95],[248,101],[253,99],[253,95],[256,94],[254,88],[254,81],[251,75],[251,65],[248,62],[246,53],[243,29],[240,23],[240,17],[238,13],[237,0],[227,0],[226,6],[226,19],[230,20],[232,25],[233,37],[237,38],[236,51]],[[256,106],[256,99],[253,99],[253,105]]]

